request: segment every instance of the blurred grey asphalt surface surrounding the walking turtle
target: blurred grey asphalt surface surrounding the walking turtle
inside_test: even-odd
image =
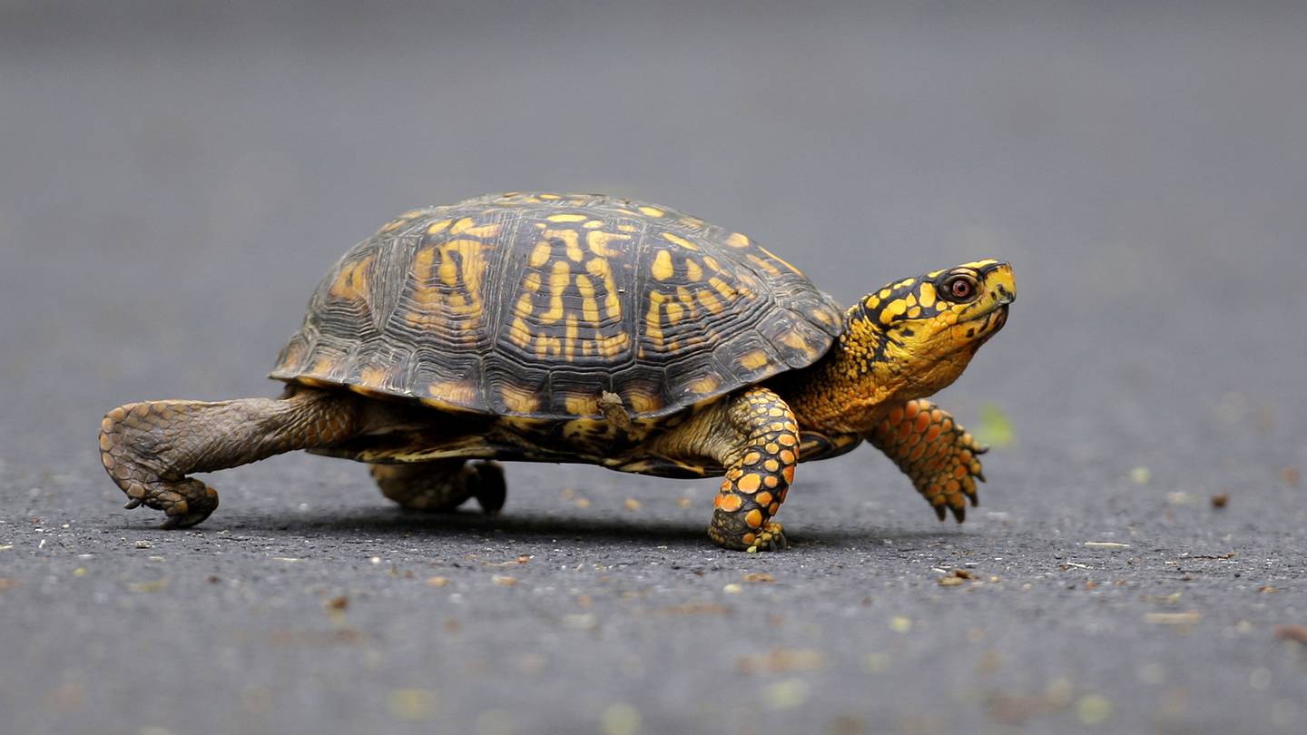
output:
[[[0,731],[1307,731],[1300,10],[264,5],[0,3]],[[510,188],[844,302],[1012,260],[938,398],[980,507],[863,449],[775,555],[707,541],[711,480],[575,466],[493,519],[307,455],[122,509],[105,411],[273,395],[346,247]]]

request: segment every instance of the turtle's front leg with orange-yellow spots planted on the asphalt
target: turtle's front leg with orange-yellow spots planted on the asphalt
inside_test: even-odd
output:
[[[795,479],[799,422],[779,395],[761,387],[733,398],[727,416],[735,441],[720,450],[727,475],[712,501],[708,538],[728,549],[783,549],[786,535],[771,518]]]

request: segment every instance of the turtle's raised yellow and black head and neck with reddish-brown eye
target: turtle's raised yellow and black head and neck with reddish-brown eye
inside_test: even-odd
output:
[[[1000,260],[903,279],[867,294],[847,311],[839,348],[829,356],[827,375],[846,396],[831,419],[861,429],[880,420],[881,408],[942,390],[1008,322],[1016,297],[1012,265]]]

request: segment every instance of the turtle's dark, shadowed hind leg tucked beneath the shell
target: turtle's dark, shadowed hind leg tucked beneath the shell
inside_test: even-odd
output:
[[[412,464],[372,464],[369,471],[382,494],[408,510],[454,513],[477,498],[486,515],[503,507],[503,470],[495,462],[468,464],[463,459],[437,459]]]

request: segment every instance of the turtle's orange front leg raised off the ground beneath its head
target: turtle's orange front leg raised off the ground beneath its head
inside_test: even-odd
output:
[[[940,521],[948,509],[962,523],[967,500],[971,505],[979,501],[976,480],[984,481],[979,455],[987,447],[929,400],[910,400],[894,408],[867,439],[912,480]]]

